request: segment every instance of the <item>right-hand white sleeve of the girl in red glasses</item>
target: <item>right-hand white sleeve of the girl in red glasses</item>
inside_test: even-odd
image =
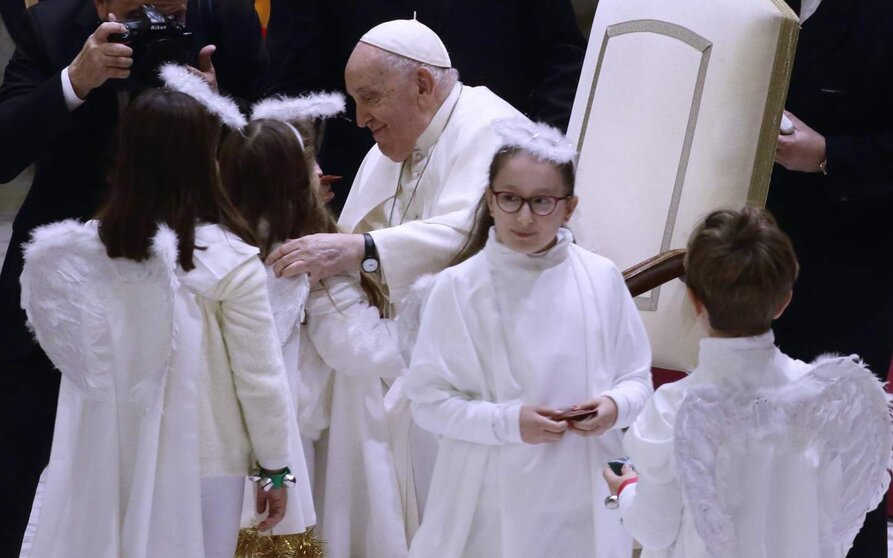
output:
[[[651,344],[642,324],[639,311],[626,288],[623,277],[613,270],[612,299],[616,300],[616,315],[612,324],[614,341],[614,385],[603,396],[617,404],[614,428],[631,425],[654,393],[651,381]]]

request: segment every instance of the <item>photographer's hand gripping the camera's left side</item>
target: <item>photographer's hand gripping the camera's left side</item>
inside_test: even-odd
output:
[[[84,43],[81,52],[68,65],[68,78],[75,95],[86,99],[107,79],[125,79],[130,76],[133,50],[118,43],[108,42],[112,33],[123,33],[125,28],[115,21],[106,21]]]

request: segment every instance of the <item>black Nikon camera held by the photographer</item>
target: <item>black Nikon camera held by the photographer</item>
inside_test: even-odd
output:
[[[133,49],[130,77],[120,80],[122,89],[146,89],[161,84],[158,68],[167,62],[188,64],[192,33],[173,15],[166,16],[155,6],[143,5],[136,17],[123,20],[124,33],[109,35],[110,43]]]

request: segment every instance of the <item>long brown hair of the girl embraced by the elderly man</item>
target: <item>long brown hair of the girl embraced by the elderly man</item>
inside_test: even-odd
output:
[[[303,151],[295,130],[277,120],[250,122],[243,134],[230,134],[220,150],[223,186],[258,237],[264,258],[289,238],[341,232],[318,194],[312,126],[297,127]],[[363,274],[360,285],[383,313],[381,288]]]

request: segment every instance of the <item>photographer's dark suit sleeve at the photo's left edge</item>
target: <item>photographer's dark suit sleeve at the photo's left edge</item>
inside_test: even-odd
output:
[[[59,71],[41,46],[35,20],[22,18],[21,38],[0,87],[0,183],[18,176],[70,119]]]

